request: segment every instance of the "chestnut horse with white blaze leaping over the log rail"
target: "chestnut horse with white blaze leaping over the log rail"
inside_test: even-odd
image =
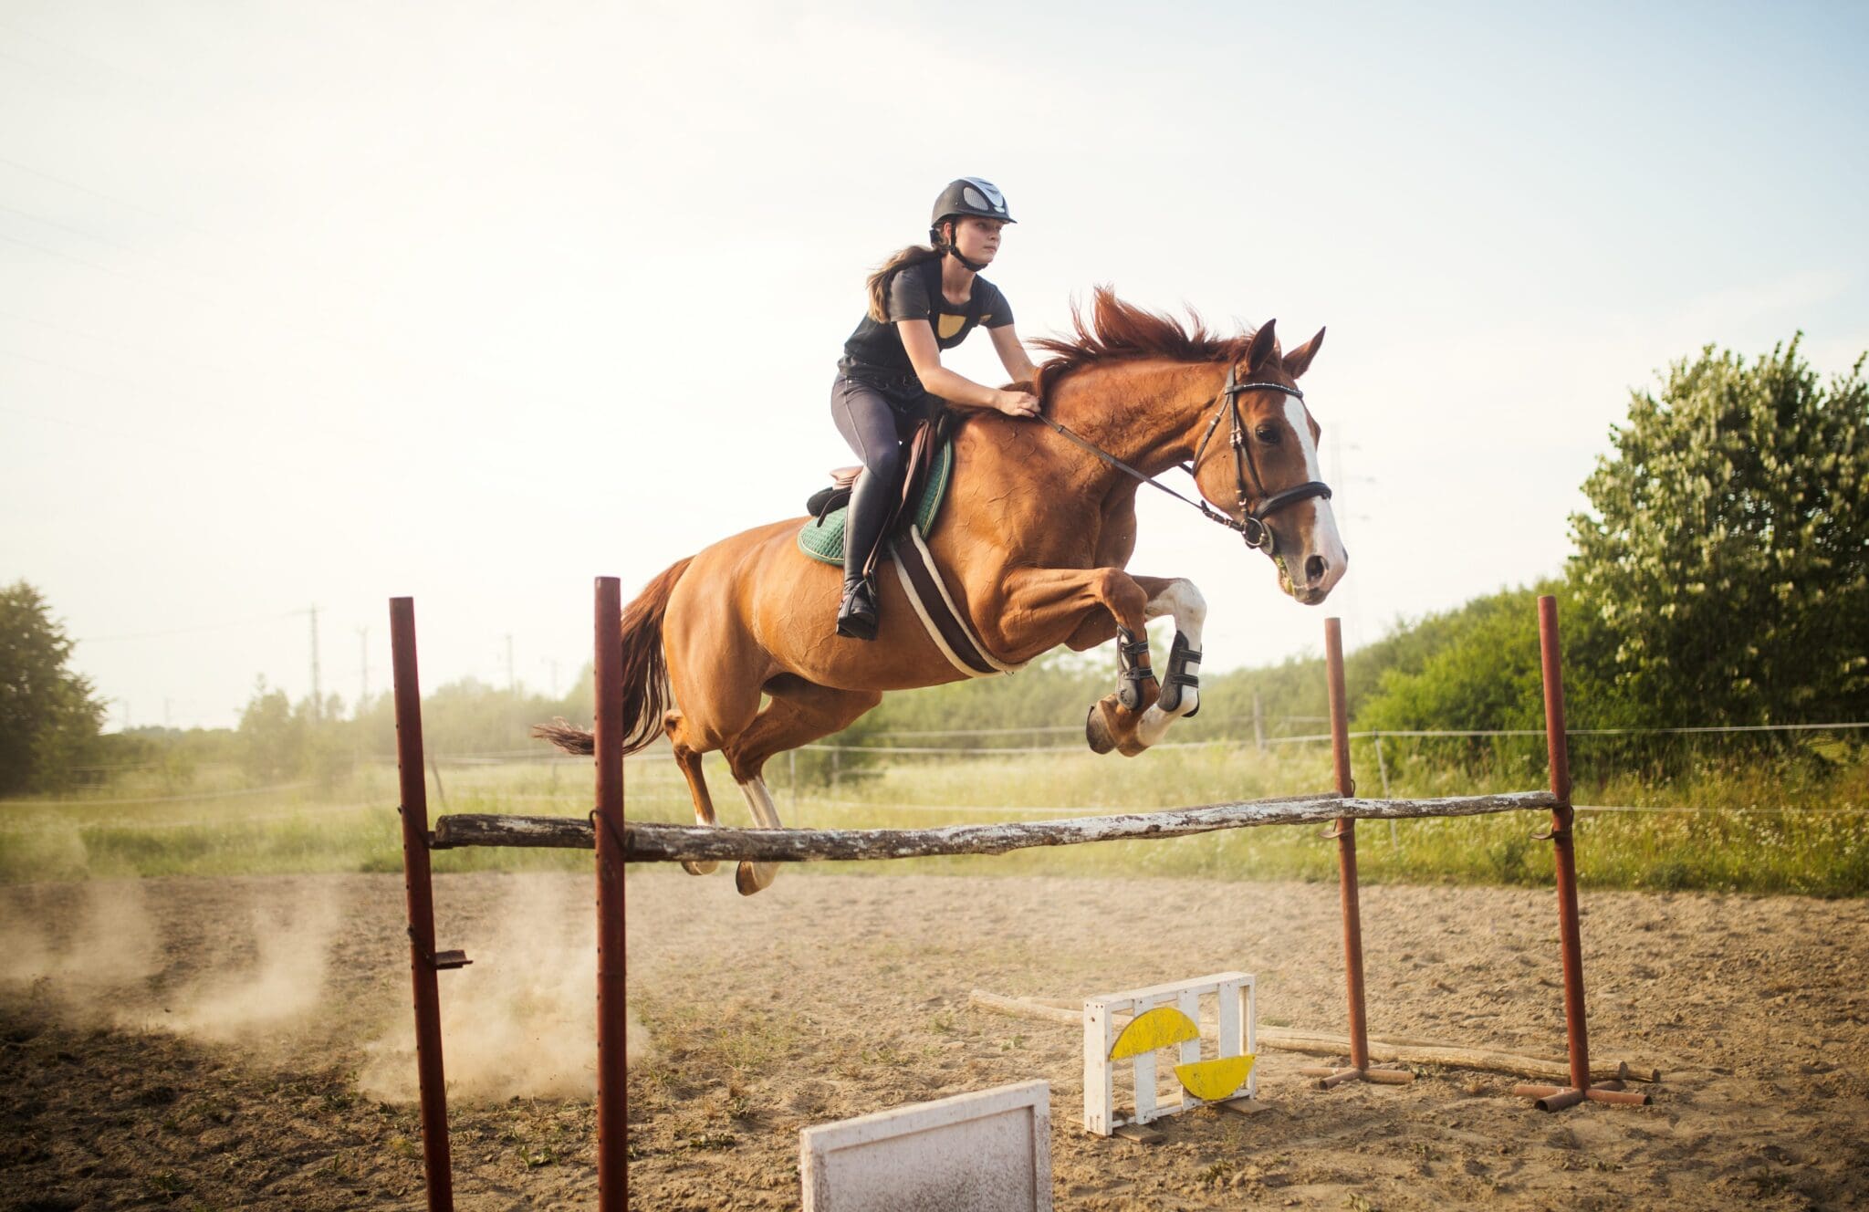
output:
[[[1265,552],[1280,589],[1306,606],[1344,576],[1348,556],[1318,469],[1321,430],[1297,387],[1323,329],[1282,354],[1273,322],[1217,337],[1194,314],[1183,325],[1108,288],[1095,292],[1090,322],[1077,307],[1071,320],[1075,337],[1034,340],[1052,354],[1030,385],[1039,419],[963,417],[949,496],[927,546],[1006,666],[1058,645],[1123,640],[1118,688],[1090,707],[1086,741],[1133,758],[1200,707],[1207,613],[1194,582],[1123,570],[1142,483],[1172,492],[1155,477],[1191,471],[1200,499],[1189,503]],[[1215,441],[1222,419],[1232,456]],[[768,759],[841,731],[888,690],[964,677],[893,576],[878,576],[878,636],[839,638],[832,619],[843,576],[798,552],[802,524],[721,539],[660,572],[622,612],[624,752],[665,735],[701,825],[718,823],[703,754],[723,750],[753,819],[779,829],[763,778]],[[1176,640],[1168,677],[1157,679],[1146,625],[1163,615],[1174,617]],[[592,735],[563,720],[535,735],[592,752]],[[718,864],[684,866],[705,875]],[[742,862],[735,883],[751,896],[774,873],[770,862]]]

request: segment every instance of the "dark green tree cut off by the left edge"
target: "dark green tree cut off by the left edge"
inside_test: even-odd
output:
[[[0,589],[0,795],[65,786],[95,746],[105,705],[37,589]]]

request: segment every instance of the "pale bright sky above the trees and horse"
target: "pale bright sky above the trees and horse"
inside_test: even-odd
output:
[[[1559,572],[1671,361],[1869,350],[1863,45],[1843,4],[0,0],[0,584],[112,728],[307,694],[314,608],[321,688],[381,692],[398,595],[424,686],[564,688],[594,576],[850,462],[863,279],[981,176],[1028,339],[1103,282],[1329,327],[1333,597],[1166,498],[1129,567],[1202,587],[1209,671],[1355,647]]]

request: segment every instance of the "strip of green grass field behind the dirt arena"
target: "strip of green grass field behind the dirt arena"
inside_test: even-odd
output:
[[[1359,744],[1357,778],[1377,793],[1374,752]],[[1394,795],[1471,795],[1544,786],[1540,771],[1471,774],[1391,754]],[[779,812],[800,827],[927,827],[1134,812],[1258,799],[1331,786],[1329,750],[1250,744],[1159,750],[1142,759],[1090,752],[899,758],[847,772],[835,786],[789,786],[787,763],[768,769]],[[751,823],[725,765],[708,782],[721,819]],[[503,812],[581,815],[591,806],[589,761],[443,763],[428,780],[430,815]],[[632,819],[688,821],[686,786],[665,756],[626,767]],[[125,875],[235,875],[400,870],[396,771],[366,763],[320,787],[249,789],[232,769],[204,769],[191,786],[120,778],[60,801],[0,802],[0,881]],[[1688,778],[1613,778],[1579,786],[1577,866],[1600,888],[1714,888],[1860,896],[1869,890],[1869,767],[1708,765]],[[1368,821],[1359,870],[1370,883],[1544,885],[1548,847],[1531,838],[1544,819],[1508,814],[1463,819]],[[1334,879],[1336,847],[1314,827],[1243,829],[1176,840],[1043,847],[1000,857],[845,864],[1019,875],[1174,875],[1200,879]],[[435,855],[435,870],[583,870],[579,851],[469,849]],[[809,866],[806,870],[811,870]]]

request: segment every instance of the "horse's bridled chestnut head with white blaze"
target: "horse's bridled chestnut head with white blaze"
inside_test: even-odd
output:
[[[1194,451],[1200,494],[1245,527],[1247,542],[1278,567],[1278,587],[1306,606],[1321,602],[1349,567],[1318,466],[1320,428],[1297,389],[1321,346],[1318,329],[1280,354],[1267,320],[1245,357],[1230,363]]]

